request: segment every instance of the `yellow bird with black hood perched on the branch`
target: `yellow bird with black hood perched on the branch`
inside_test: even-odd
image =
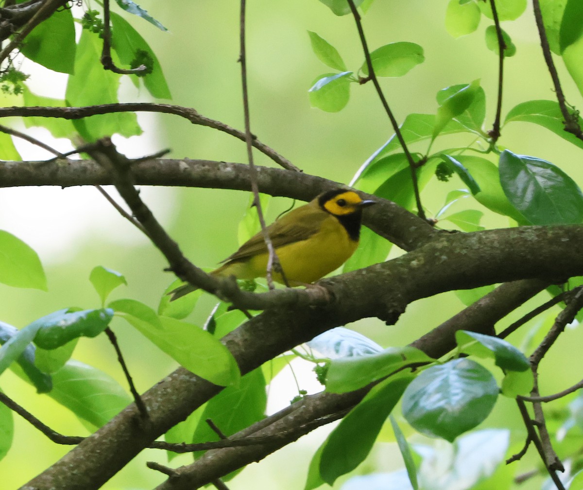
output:
[[[305,286],[318,281],[342,265],[359,244],[362,209],[376,204],[343,188],[324,192],[311,202],[293,209],[266,228],[273,243],[283,276],[273,279],[289,286]],[[261,232],[247,240],[212,275],[237,279],[265,277],[269,253]],[[174,289],[172,300],[194,290],[189,284]]]

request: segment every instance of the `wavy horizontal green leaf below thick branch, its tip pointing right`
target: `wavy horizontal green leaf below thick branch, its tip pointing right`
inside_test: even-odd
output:
[[[328,369],[326,391],[345,393],[390,375],[396,369],[418,362],[433,362],[415,347],[389,347],[378,354],[333,359]]]

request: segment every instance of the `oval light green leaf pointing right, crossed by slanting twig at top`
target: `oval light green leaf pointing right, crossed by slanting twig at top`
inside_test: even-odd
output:
[[[415,43],[391,43],[375,49],[370,54],[374,74],[377,76],[403,76],[425,61],[423,48]],[[366,61],[360,68],[368,76]]]

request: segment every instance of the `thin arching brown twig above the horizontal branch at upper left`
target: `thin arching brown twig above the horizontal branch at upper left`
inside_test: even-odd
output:
[[[153,102],[101,104],[85,107],[0,107],[0,117],[60,117],[66,120],[76,120],[97,114],[139,111],[178,115],[179,117],[183,117],[192,122],[192,124],[217,129],[218,131],[226,132],[241,141],[247,141],[247,136],[244,131],[238,131],[238,129],[231,128],[229,125],[224,124],[224,122],[205,117],[191,107],[173,106],[171,104],[156,104]],[[279,155],[279,153],[273,148],[270,148],[265,145],[265,143],[259,141],[255,135],[253,135],[252,143],[254,148],[257,148],[260,152],[264,153],[264,155],[271,158],[273,162],[282,166],[284,169],[298,172],[301,171],[288,159]]]

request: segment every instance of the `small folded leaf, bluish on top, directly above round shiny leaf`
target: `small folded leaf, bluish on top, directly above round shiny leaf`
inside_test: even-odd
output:
[[[522,352],[501,338],[458,330],[455,332],[455,340],[462,352],[479,358],[494,358],[500,369],[522,372],[531,367]]]

